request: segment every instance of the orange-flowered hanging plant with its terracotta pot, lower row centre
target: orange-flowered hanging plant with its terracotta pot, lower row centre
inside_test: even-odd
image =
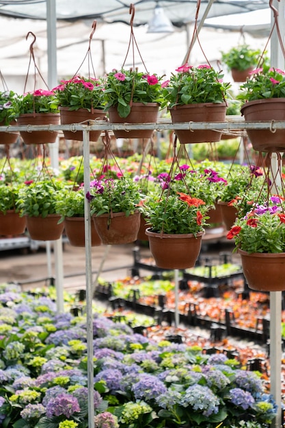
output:
[[[160,198],[146,198],[143,212],[150,226],[146,235],[157,267],[186,269],[195,265],[207,211],[204,200],[183,192],[166,190]]]

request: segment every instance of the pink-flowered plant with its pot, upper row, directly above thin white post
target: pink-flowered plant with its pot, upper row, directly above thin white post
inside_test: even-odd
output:
[[[62,80],[55,91],[62,125],[103,120],[105,116],[104,87],[101,79],[74,76]],[[101,131],[91,131],[90,141],[97,141]],[[64,131],[66,139],[83,141],[82,131]]]

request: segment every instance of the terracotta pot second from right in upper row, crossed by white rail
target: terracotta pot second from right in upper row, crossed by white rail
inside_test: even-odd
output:
[[[200,103],[178,105],[169,109],[172,116],[172,123],[182,122],[225,122],[226,103]],[[190,125],[189,125],[190,126]],[[202,129],[198,131],[188,131],[174,129],[181,144],[187,143],[211,143],[221,139],[221,131]]]

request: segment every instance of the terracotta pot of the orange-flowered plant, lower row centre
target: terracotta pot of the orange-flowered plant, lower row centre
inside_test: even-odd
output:
[[[146,229],[150,243],[150,252],[157,267],[162,269],[187,269],[193,267],[200,254],[202,236],[193,233],[185,235],[169,235],[152,232]]]

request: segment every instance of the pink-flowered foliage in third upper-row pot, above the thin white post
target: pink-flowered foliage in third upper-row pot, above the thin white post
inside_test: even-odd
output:
[[[70,80],[63,80],[55,91],[59,106],[69,107],[70,111],[78,109],[102,110],[105,105],[103,81],[100,79],[86,79],[75,76]]]

